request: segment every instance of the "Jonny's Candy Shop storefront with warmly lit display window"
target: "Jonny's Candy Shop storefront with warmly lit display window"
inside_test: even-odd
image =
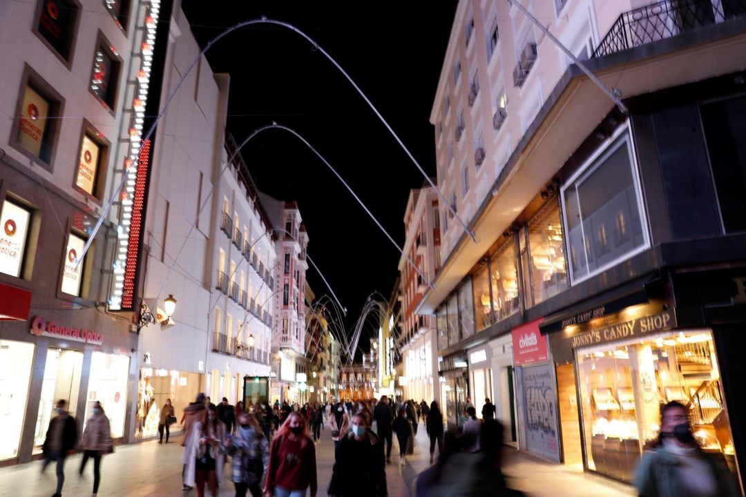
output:
[[[560,392],[577,385],[580,438],[563,419],[565,460],[579,453],[586,469],[631,481],[658,436],[660,407],[677,401],[689,409],[703,450],[723,455],[736,472],[712,329],[678,326],[674,310],[659,302],[609,315],[589,309],[565,323],[577,324],[550,335]],[[560,374],[567,367],[574,375]]]

